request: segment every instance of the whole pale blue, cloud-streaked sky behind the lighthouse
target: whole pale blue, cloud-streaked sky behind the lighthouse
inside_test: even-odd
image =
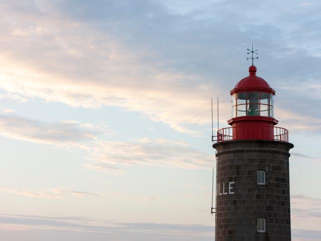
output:
[[[294,144],[292,240],[319,240],[320,11],[312,0],[0,1],[2,239],[213,240],[211,98],[215,130],[228,127],[253,43]]]

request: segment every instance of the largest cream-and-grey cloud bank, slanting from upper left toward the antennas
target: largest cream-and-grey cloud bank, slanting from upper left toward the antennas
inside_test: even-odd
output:
[[[185,124],[209,123],[209,99],[220,91],[218,86],[201,83],[198,74],[164,69],[163,60],[146,61],[153,49],[137,51],[117,36],[68,16],[58,20],[54,6],[16,5],[3,4],[4,11],[17,17],[17,25],[4,18],[7,37],[2,46],[19,43],[0,58],[0,87],[8,93],[74,107],[119,106],[191,135],[200,133]],[[24,12],[28,7],[32,11]]]

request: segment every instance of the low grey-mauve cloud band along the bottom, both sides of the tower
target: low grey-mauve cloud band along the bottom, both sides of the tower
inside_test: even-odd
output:
[[[35,241],[64,240],[170,240],[210,241],[213,225],[173,223],[119,223],[89,217],[50,217],[0,214],[0,234],[8,241],[30,238]],[[319,240],[319,230],[292,229],[292,240]]]

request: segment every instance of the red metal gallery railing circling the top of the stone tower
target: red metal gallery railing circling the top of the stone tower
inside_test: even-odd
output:
[[[216,140],[214,137],[212,137],[213,142],[225,142],[225,141],[232,141],[232,140],[271,140],[271,141],[280,141],[280,142],[288,142],[288,131],[281,127],[271,127],[273,130],[273,136],[270,135],[271,138],[267,138],[266,136],[266,129],[267,127],[228,127],[228,128],[222,128],[217,132]],[[244,138],[245,135],[239,135],[239,133],[242,133],[242,131],[245,131],[249,135]],[[235,134],[233,136],[234,133]],[[252,135],[251,135],[252,134]],[[251,138],[255,136],[255,138]]]

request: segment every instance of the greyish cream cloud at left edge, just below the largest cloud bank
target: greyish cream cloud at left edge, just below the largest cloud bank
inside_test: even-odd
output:
[[[92,141],[98,134],[99,128],[90,124],[74,121],[44,123],[19,116],[0,115],[0,135],[16,140],[63,146]]]

